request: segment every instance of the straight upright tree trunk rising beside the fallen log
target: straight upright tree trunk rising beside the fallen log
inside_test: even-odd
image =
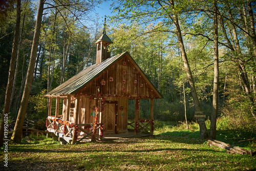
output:
[[[212,113],[210,121],[209,137],[216,139],[216,122],[218,115],[218,99],[219,99],[219,50],[218,50],[218,14],[217,0],[214,1],[214,86],[212,97]]]

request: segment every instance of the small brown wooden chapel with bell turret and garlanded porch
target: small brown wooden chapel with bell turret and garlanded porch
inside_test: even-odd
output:
[[[133,127],[134,136],[153,135],[154,99],[162,95],[128,52],[111,57],[109,45],[112,41],[105,28],[95,44],[96,64],[45,95],[49,98],[47,130],[69,143],[125,134],[128,125]],[[56,98],[54,116],[53,98]],[[128,118],[129,99],[135,100],[134,118]],[[150,99],[150,118],[140,118],[140,99]],[[62,113],[59,113],[60,105]]]

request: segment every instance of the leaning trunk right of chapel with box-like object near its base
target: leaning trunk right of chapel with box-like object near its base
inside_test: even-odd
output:
[[[170,0],[170,4],[171,4],[172,7],[174,7],[175,6],[174,5],[174,0]],[[179,42],[179,46],[180,46],[182,60],[184,62],[184,68],[185,68],[187,78],[188,78],[188,81],[189,81],[189,84],[190,84],[191,95],[192,95],[194,103],[195,103],[195,109],[196,109],[196,111],[201,111],[200,102],[198,100],[198,96],[197,96],[197,92],[196,92],[196,86],[195,86],[193,75],[191,73],[191,70],[190,70],[190,67],[189,67],[189,64],[188,64],[187,55],[186,55],[185,47],[184,47],[184,44],[183,44],[183,39],[182,39],[182,34],[181,34],[177,14],[174,14],[173,19],[174,19],[174,24],[176,26],[176,33],[177,33],[177,37],[178,37],[178,42]],[[198,123],[199,123],[199,127],[200,127],[200,139],[207,139],[208,138],[208,133],[207,133],[205,122],[200,121]]]

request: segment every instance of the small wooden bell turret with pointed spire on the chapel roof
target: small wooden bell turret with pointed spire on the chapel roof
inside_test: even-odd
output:
[[[105,19],[106,22],[106,19]],[[106,24],[104,24],[103,34],[100,36],[100,38],[95,42],[97,44],[97,54],[96,54],[96,64],[101,63],[105,59],[110,58],[110,49],[109,45],[113,42],[109,38],[108,35],[106,35]]]

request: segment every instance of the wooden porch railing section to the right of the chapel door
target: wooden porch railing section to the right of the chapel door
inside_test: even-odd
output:
[[[134,118],[128,118],[132,122],[128,122],[128,125],[132,126],[137,136],[140,134],[151,134],[154,132],[154,120],[153,119],[139,119],[138,122]]]

